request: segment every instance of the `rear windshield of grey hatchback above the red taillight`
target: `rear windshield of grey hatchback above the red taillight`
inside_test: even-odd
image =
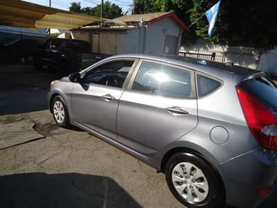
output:
[[[244,80],[238,87],[256,98],[269,110],[277,112],[277,85],[270,78],[262,76]]]

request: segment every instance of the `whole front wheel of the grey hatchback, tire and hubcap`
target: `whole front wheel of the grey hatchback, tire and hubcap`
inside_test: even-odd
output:
[[[61,96],[55,96],[51,105],[51,112],[57,125],[63,128],[69,128],[71,126],[69,121],[69,111]]]

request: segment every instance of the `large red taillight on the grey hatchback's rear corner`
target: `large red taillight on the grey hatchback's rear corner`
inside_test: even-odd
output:
[[[274,114],[242,89],[237,88],[237,93],[247,125],[255,139],[264,148],[277,149],[277,123]]]

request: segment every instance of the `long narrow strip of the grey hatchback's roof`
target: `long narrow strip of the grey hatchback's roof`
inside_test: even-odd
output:
[[[233,73],[239,76],[249,76],[258,71],[255,69],[249,69],[246,67],[239,67],[235,65],[224,64],[220,62],[214,62],[209,60],[202,60],[197,58],[187,58],[180,55],[161,55],[161,54],[122,54],[114,55],[111,58],[144,58],[148,60],[157,60],[161,62],[168,62],[172,64],[177,64],[182,67],[187,67],[190,69],[195,69],[199,71],[205,71],[205,68],[224,71],[226,73]]]

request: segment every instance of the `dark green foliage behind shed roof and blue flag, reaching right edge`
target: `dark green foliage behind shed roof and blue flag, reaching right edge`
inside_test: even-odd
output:
[[[218,0],[134,0],[134,14],[173,11],[188,26]],[[276,0],[222,0],[213,35],[208,37],[206,15],[185,33],[182,42],[199,38],[231,46],[277,46]]]

